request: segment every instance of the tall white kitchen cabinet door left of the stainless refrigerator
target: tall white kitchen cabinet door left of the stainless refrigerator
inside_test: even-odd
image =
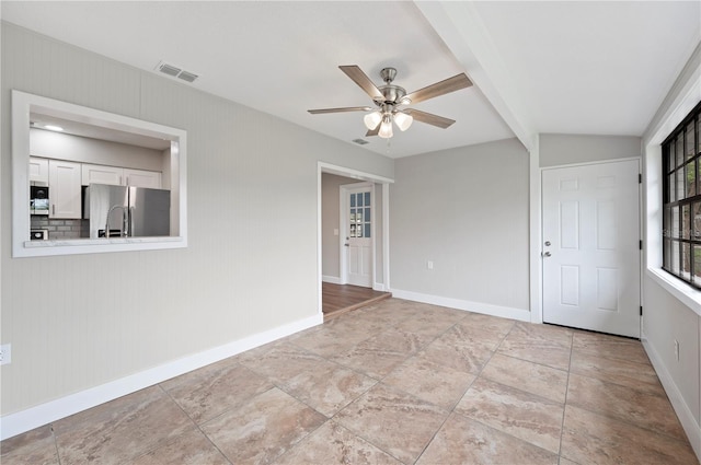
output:
[[[48,161],[49,218],[81,218],[81,175],[80,163]]]

